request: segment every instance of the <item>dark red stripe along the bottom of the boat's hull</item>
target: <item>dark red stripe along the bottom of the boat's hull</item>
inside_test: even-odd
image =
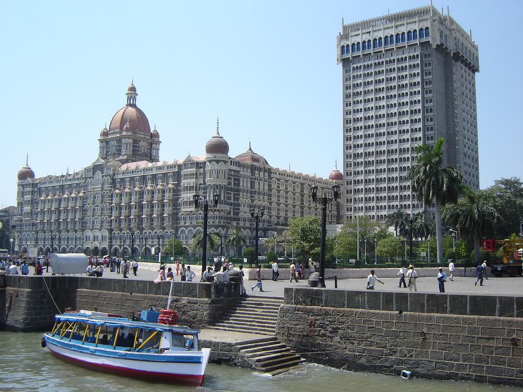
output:
[[[116,374],[118,376],[127,376],[140,379],[148,379],[151,381],[175,381],[178,384],[185,384],[191,386],[200,386],[203,382],[203,375],[196,374],[174,374],[174,373],[161,373],[161,372],[149,372],[138,369],[130,369],[127,367],[113,366],[108,364],[91,363],[67,356],[53,350],[50,350],[58,358],[73,362],[78,366],[82,366],[94,371],[101,371],[106,373]]]

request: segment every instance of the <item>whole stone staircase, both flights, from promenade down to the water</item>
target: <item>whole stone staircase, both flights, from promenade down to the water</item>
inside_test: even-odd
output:
[[[287,372],[305,362],[296,352],[280,343],[275,336],[278,309],[282,297],[248,296],[231,308],[224,320],[210,327],[226,331],[266,335],[259,339],[236,344],[235,350],[243,354],[252,367],[273,376]]]

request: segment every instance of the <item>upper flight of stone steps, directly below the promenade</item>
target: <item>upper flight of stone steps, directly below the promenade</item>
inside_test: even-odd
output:
[[[210,328],[274,336],[281,304],[282,297],[244,297],[231,308],[221,322]]]

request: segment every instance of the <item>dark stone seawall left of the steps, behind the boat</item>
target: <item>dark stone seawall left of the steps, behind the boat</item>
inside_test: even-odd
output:
[[[140,316],[143,309],[151,306],[165,308],[170,289],[170,282],[83,276],[6,275],[4,279],[6,287],[0,289],[0,327],[20,331],[47,330],[54,324],[54,315],[66,308]],[[236,304],[236,297],[212,298],[211,289],[211,283],[174,282],[171,308],[178,310],[180,324],[191,328],[212,325]],[[235,287],[235,292],[238,290]]]

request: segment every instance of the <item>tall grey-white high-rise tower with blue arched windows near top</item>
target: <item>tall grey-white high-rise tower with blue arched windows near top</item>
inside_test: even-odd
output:
[[[399,209],[433,213],[435,205],[416,200],[405,176],[414,147],[439,137],[444,165],[479,189],[472,32],[431,5],[342,25],[346,220],[359,214],[384,222]]]

